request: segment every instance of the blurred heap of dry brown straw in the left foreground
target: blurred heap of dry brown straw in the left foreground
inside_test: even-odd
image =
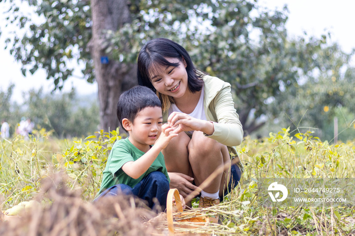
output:
[[[131,196],[107,198],[92,203],[70,190],[65,174],[57,173],[42,183],[37,201],[47,200],[19,217],[0,221],[0,235],[150,235],[157,230],[147,225],[157,214]]]

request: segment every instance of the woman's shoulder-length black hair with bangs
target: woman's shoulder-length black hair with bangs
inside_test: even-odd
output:
[[[180,61],[185,59],[189,90],[194,93],[202,89],[203,80],[201,80],[201,77],[203,74],[196,70],[188,52],[181,45],[167,38],[155,38],[141,48],[137,60],[138,85],[146,86],[155,91],[150,78],[152,67],[159,65],[176,67],[179,65],[179,63],[171,63],[165,58],[178,58]]]

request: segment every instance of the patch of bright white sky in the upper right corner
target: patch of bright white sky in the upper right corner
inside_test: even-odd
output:
[[[286,28],[291,35],[320,37],[331,32],[331,41],[337,42],[341,48],[350,53],[355,48],[355,22],[353,9],[355,1],[351,0],[260,0],[261,6],[281,10],[285,4],[289,9]]]

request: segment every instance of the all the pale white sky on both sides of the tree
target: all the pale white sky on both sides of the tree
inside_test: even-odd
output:
[[[345,52],[349,53],[355,48],[355,31],[352,27],[355,22],[355,14],[353,14],[355,1],[259,0],[258,4],[270,10],[281,10],[285,4],[288,5],[289,19],[286,28],[290,37],[301,36],[307,32],[308,36],[319,38],[330,31],[331,41],[337,42]],[[4,30],[3,20],[0,20],[0,27]],[[4,49],[5,36],[0,37],[0,90],[6,91],[11,83],[15,84],[12,99],[18,103],[23,102],[22,93],[30,89],[38,90],[42,87],[45,93],[51,92],[54,88],[53,81],[46,80],[43,69],[39,69],[33,75],[29,73],[26,77],[22,75],[20,64],[15,62],[9,50]],[[74,74],[78,77],[82,76],[80,69],[75,70]],[[72,87],[76,88],[79,95],[97,93],[96,83],[89,84],[77,77],[70,77],[64,83],[63,91],[70,91]]]

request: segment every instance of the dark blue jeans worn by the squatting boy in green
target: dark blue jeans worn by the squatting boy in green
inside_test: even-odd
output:
[[[162,210],[166,208],[166,197],[169,191],[169,181],[166,176],[159,171],[151,172],[144,177],[133,188],[126,184],[114,185],[103,192],[94,200],[95,202],[105,196],[116,196],[119,194],[135,195],[147,202],[150,208],[155,207],[154,199],[157,199]]]

